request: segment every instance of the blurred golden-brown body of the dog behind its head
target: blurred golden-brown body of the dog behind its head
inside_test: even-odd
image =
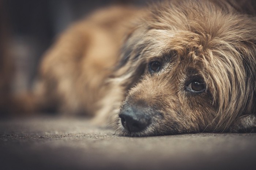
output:
[[[42,57],[33,91],[8,95],[1,111],[94,115],[121,45],[142,13],[136,7],[113,6],[72,24]]]

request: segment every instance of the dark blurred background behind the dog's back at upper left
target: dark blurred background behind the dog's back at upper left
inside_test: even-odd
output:
[[[0,0],[0,98],[31,88],[42,54],[72,22],[98,8],[149,1]]]

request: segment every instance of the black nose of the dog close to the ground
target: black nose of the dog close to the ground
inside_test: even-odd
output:
[[[150,116],[146,112],[131,107],[123,109],[119,117],[124,128],[129,132],[141,131],[151,123]]]

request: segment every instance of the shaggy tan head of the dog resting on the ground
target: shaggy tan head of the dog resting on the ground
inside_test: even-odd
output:
[[[152,9],[124,43],[121,134],[226,131],[255,113],[256,19],[186,3]]]

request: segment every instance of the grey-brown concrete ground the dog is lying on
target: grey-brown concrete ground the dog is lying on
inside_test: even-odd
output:
[[[0,169],[256,170],[256,133],[114,133],[81,118],[0,120]]]

